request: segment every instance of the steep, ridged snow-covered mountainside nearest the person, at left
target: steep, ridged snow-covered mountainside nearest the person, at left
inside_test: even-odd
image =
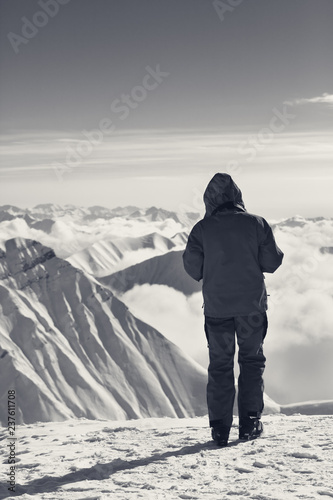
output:
[[[94,278],[37,241],[0,255],[0,415],[186,417],[206,412],[206,373]]]

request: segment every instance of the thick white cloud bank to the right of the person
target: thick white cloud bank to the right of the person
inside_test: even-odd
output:
[[[266,274],[268,334],[267,393],[279,403],[329,399],[333,354],[333,220],[275,230],[285,256]]]

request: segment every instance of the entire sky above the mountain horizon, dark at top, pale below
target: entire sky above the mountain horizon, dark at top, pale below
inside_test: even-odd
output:
[[[2,204],[332,216],[331,0],[0,0]]]

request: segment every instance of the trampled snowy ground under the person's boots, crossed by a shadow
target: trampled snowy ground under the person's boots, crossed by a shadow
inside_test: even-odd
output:
[[[333,498],[333,416],[279,414],[263,422],[264,436],[242,443],[235,418],[227,448],[214,445],[202,417],[21,425],[13,496],[2,428],[0,498]]]

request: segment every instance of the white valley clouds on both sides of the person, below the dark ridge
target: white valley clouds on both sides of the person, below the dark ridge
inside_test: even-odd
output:
[[[285,257],[276,273],[266,273],[266,390],[279,403],[329,399],[333,255],[320,248],[333,246],[333,220],[297,217],[294,226],[280,221],[275,237]],[[134,314],[207,366],[201,293],[186,298],[166,286],[144,285],[124,294],[123,300]]]

